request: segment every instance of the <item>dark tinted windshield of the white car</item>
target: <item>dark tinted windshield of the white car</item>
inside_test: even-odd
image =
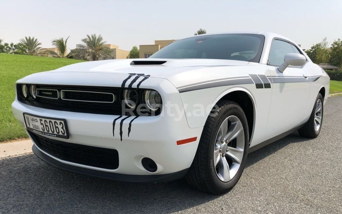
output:
[[[259,34],[203,35],[177,40],[149,58],[259,62],[264,40],[265,37]]]

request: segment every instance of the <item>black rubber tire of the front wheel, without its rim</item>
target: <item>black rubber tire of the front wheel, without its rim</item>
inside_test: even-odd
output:
[[[225,193],[237,184],[242,172],[244,171],[249,146],[248,123],[245,113],[241,107],[235,102],[226,100],[219,101],[217,105],[218,108],[215,111],[212,111],[211,115],[208,116],[202,131],[195,158],[185,176],[185,179],[191,186],[203,192],[213,194]],[[245,136],[245,145],[240,168],[231,180],[224,182],[220,180],[216,174],[216,169],[213,163],[213,150],[216,135],[222,122],[231,115],[238,117],[242,124]]]

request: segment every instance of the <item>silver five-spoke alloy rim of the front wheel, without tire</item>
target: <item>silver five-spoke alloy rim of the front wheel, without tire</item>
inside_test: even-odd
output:
[[[245,134],[240,119],[227,117],[216,135],[214,146],[214,166],[220,180],[231,180],[240,168],[244,156]]]

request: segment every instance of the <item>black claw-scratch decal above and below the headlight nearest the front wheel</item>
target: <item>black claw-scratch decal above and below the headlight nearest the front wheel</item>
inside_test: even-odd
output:
[[[140,87],[141,83],[150,77],[150,75],[130,73],[129,76],[128,76],[126,79],[124,79],[124,80],[122,81],[121,88],[125,88],[126,83],[127,83],[133,76],[135,76],[135,77],[134,77],[134,78],[131,80],[131,82],[129,83],[128,88],[132,88],[133,84],[136,83],[136,81],[137,81],[140,77],[143,77],[143,78],[139,81],[139,83],[137,84],[137,86],[136,86],[136,88],[138,89],[138,88]],[[114,137],[114,135],[115,135],[115,134],[114,134],[114,130],[115,130],[116,121],[117,121],[118,119],[121,118],[121,120],[120,120],[120,132],[119,132],[119,134],[120,134],[120,140],[122,141],[122,134],[123,134],[122,126],[123,126],[123,122],[124,122],[127,118],[132,117],[132,116],[135,116],[135,115],[129,115],[129,116],[126,116],[126,117],[123,117],[122,115],[120,115],[120,116],[118,116],[117,118],[114,119],[114,121],[113,121],[113,137]],[[128,137],[129,137],[129,134],[131,133],[132,122],[133,122],[136,118],[138,118],[138,117],[139,117],[139,116],[135,116],[135,117],[129,122],[129,125],[128,125]]]

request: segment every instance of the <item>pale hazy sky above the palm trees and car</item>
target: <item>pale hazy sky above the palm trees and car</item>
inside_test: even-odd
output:
[[[342,38],[342,0],[0,0],[0,39],[34,36],[50,48],[68,37],[68,49],[87,34],[130,50],[154,40],[207,33],[269,31],[303,49]]]

